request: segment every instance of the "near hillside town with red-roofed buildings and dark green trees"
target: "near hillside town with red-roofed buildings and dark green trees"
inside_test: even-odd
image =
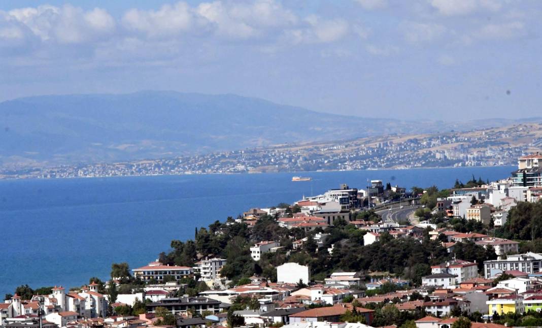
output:
[[[82,286],[22,285],[6,328],[542,325],[542,154],[499,181],[347,184],[173,240]],[[36,287],[36,286],[34,286]]]

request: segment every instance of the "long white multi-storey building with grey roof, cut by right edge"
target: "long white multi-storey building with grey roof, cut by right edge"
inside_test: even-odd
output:
[[[483,261],[485,278],[492,278],[505,271],[517,270],[527,274],[537,273],[542,267],[542,254],[525,253],[508,255],[506,259]]]

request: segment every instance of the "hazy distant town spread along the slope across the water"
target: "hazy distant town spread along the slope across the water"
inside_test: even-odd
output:
[[[0,178],[72,178],[514,165],[542,145],[542,124],[278,145],[124,163],[4,168]]]

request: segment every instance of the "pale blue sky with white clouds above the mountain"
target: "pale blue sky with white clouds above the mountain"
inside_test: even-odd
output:
[[[542,116],[542,1],[0,2],[0,101],[234,93],[362,117]]]

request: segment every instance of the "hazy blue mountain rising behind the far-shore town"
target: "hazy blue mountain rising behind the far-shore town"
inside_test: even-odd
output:
[[[3,166],[115,162],[472,127],[346,117],[231,94],[177,92],[21,98],[0,103],[0,118]]]

